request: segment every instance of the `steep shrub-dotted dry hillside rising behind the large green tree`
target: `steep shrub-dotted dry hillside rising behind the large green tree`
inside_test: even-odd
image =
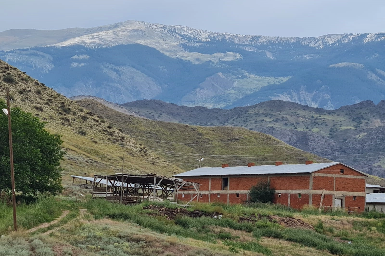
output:
[[[144,151],[135,140],[109,125],[102,116],[83,108],[51,88],[0,60],[0,97],[10,88],[11,106],[20,107],[47,122],[46,128],[62,135],[65,155],[63,178],[69,175],[91,176],[115,173],[181,172],[157,154]],[[148,163],[152,163],[149,165]]]

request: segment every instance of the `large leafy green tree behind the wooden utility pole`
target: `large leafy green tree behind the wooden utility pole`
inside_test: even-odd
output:
[[[0,108],[5,106],[0,101]],[[45,123],[20,108],[11,110],[13,163],[16,191],[23,197],[62,190],[60,136],[44,129]],[[8,119],[0,113],[0,191],[11,191]]]

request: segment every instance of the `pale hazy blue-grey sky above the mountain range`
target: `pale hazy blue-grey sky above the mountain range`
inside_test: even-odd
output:
[[[125,20],[273,36],[385,31],[383,0],[4,0],[0,31]]]

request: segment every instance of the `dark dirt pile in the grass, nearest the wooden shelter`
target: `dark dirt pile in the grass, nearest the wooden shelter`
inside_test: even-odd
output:
[[[184,208],[166,208],[161,206],[156,206],[150,204],[149,206],[144,206],[143,209],[156,210],[157,212],[148,213],[151,216],[166,216],[167,219],[175,219],[177,215],[188,216],[192,218],[198,217],[214,217],[220,215],[220,213],[206,213],[204,211],[189,211]]]

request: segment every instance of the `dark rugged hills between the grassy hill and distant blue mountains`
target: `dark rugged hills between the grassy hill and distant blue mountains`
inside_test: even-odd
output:
[[[122,104],[137,115],[190,125],[238,126],[261,131],[373,175],[384,176],[385,101],[362,101],[336,110],[288,101],[266,101],[230,110],[177,106],[159,100]]]

